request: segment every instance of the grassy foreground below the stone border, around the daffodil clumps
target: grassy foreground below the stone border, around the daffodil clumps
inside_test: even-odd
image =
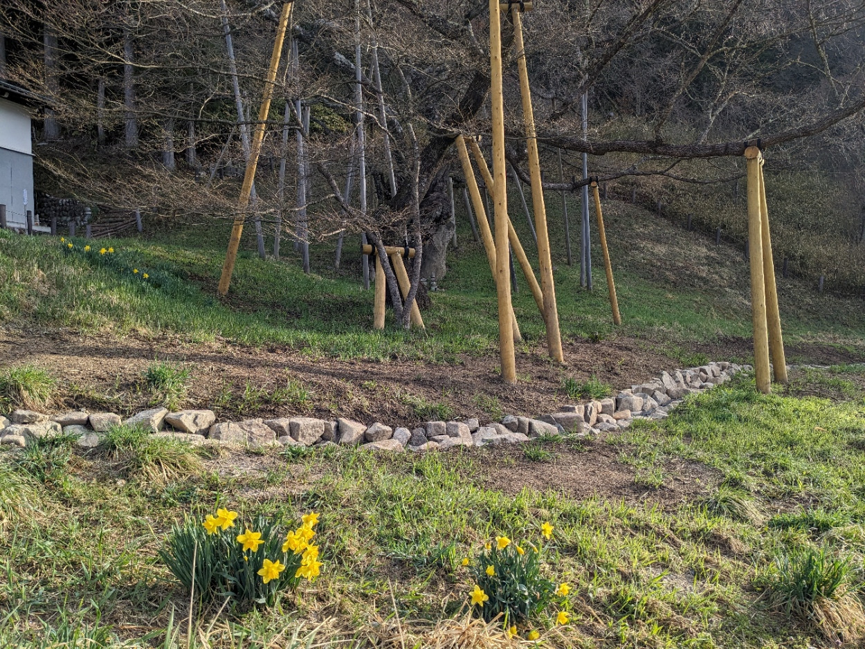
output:
[[[863,388],[861,366],[796,372],[771,396],[741,378],[607,440],[507,452],[214,454],[142,440],[6,452],[0,645],[436,646],[465,627],[463,557],[498,535],[538,543],[548,522],[543,570],[570,584],[571,621],[554,626],[561,604],[521,621],[539,646],[854,646]],[[627,484],[575,494],[569,473],[607,451]],[[157,552],[172,524],[217,505],[243,524],[320,513],[321,578],[269,608],[195,607],[190,622],[189,592]],[[512,646],[496,633],[477,646]]]

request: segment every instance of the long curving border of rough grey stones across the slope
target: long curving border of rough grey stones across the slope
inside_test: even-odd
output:
[[[563,406],[561,411],[535,418],[506,415],[502,421],[481,425],[477,418],[464,421],[427,421],[422,427],[387,426],[379,421],[367,426],[342,417],[332,421],[312,417],[279,417],[216,421],[213,410],[151,408],[123,420],[114,413],[73,412],[48,415],[16,410],[10,419],[0,416],[0,444],[26,447],[53,435],[77,436],[81,448],[98,447],[113,426],[143,427],[152,437],[181,440],[200,446],[266,447],[351,446],[371,451],[446,451],[453,447],[485,447],[521,444],[542,435],[585,437],[623,430],[637,419],[659,420],[689,394],[698,394],[726,382],[750,365],[708,363],[697,368],[662,372],[650,382],[633,385],[614,398]]]

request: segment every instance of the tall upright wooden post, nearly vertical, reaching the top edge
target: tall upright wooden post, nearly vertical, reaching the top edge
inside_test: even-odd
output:
[[[490,105],[492,106],[493,204],[496,215],[496,289],[498,292],[498,344],[502,378],[516,383],[514,332],[511,329],[508,273],[508,188],[504,162],[504,97],[502,92],[502,22],[498,0],[490,0]]]

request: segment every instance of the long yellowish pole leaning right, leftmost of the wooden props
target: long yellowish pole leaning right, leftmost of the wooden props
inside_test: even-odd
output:
[[[267,70],[267,81],[264,95],[259,108],[259,121],[253,132],[252,149],[249,152],[247,170],[243,176],[243,185],[240,188],[240,201],[238,213],[234,218],[234,227],[231,229],[231,239],[228,241],[228,252],[225,255],[225,263],[222,265],[222,275],[219,280],[219,293],[225,295],[228,285],[231,284],[231,273],[234,271],[234,261],[237,260],[237,249],[240,247],[240,235],[243,234],[243,211],[249,204],[249,194],[253,189],[255,170],[259,165],[259,153],[261,152],[261,141],[265,137],[265,124],[267,113],[270,112],[270,102],[273,96],[273,82],[276,80],[276,71],[279,67],[279,56],[282,54],[282,42],[285,39],[285,28],[288,25],[289,16],[292,15],[293,0],[282,5],[282,15],[279,16],[279,28],[276,33],[276,41],[273,42],[270,68]]]

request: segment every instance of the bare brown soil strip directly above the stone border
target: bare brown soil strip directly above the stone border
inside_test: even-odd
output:
[[[106,409],[131,414],[151,394],[144,372],[156,359],[192,371],[184,408],[213,408],[221,419],[306,414],[347,416],[365,423],[412,426],[429,419],[502,414],[534,416],[570,402],[565,378],[596,376],[614,389],[644,382],[676,361],[627,337],[564,345],[565,363],[537,345],[516,355],[516,386],[498,376],[498,357],[462,355],[453,363],[312,357],[279,345],[190,344],[179,337],[115,337],[75,331],[0,330],[0,357],[32,363],[60,379],[55,409]],[[295,390],[285,395],[292,383]],[[300,389],[301,394],[297,394]],[[282,392],[280,392],[282,390]]]

